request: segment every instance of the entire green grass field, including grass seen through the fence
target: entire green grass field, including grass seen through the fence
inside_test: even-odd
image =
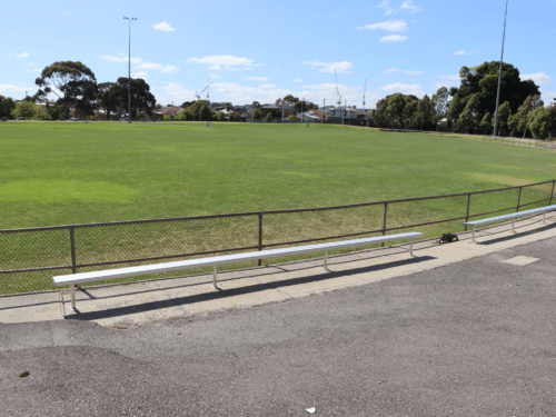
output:
[[[0,125],[0,229],[9,229],[504,188],[556,178],[556,153],[469,138],[318,125],[9,122]],[[547,198],[550,189],[528,188],[522,203]],[[516,191],[474,196],[471,214],[515,206],[516,198]],[[466,202],[457,197],[391,205],[388,227],[465,216]],[[378,230],[383,210],[370,206],[266,215],[264,242]],[[427,237],[460,229],[461,221],[419,228]],[[78,264],[257,242],[257,216],[76,231]],[[70,262],[67,230],[0,234],[0,270]],[[3,275],[0,294],[48,289],[52,275],[69,271]]]

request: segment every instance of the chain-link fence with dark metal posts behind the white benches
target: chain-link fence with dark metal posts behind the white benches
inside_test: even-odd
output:
[[[317,209],[0,230],[0,295],[53,290],[57,287],[52,285],[52,276],[63,274],[356,239],[411,229],[424,232],[425,238],[434,238],[466,230],[463,222],[469,219],[552,205],[553,200],[556,201],[555,185],[556,180],[552,180],[487,191]],[[351,250],[373,247],[376,245]],[[337,250],[344,251],[346,249]],[[222,267],[228,270],[251,268],[321,255],[305,254]],[[191,275],[196,276],[193,279],[203,279],[199,275],[208,272],[210,268],[199,268],[148,278]],[[110,282],[142,279],[122,278]]]

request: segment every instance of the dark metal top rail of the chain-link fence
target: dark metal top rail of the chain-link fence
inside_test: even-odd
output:
[[[201,219],[218,219],[218,218],[226,218],[226,217],[248,217],[248,216],[264,216],[264,215],[281,215],[281,214],[288,214],[288,212],[309,212],[309,211],[337,210],[337,209],[365,207],[365,206],[378,206],[378,205],[393,203],[393,202],[431,200],[431,199],[438,199],[438,198],[451,198],[451,197],[463,197],[463,196],[487,193],[487,192],[507,191],[507,190],[514,190],[514,189],[519,189],[519,188],[524,188],[524,187],[542,186],[542,185],[550,183],[550,182],[556,182],[556,179],[552,179],[548,181],[542,181],[542,182],[535,182],[535,183],[527,183],[524,186],[495,188],[492,190],[468,191],[468,192],[458,192],[458,193],[429,196],[429,197],[401,198],[401,199],[397,199],[397,200],[359,202],[356,205],[346,205],[346,206],[330,206],[330,207],[288,209],[288,210],[247,211],[247,212],[236,212],[236,214],[225,214],[225,215],[169,217],[169,218],[162,218],[162,219],[107,221],[107,222],[81,224],[81,225],[43,226],[43,227],[3,229],[3,230],[0,229],[0,234],[14,234],[14,232],[26,232],[26,231],[47,231],[47,230],[62,230],[62,229],[81,229],[81,228],[88,228],[88,227],[102,227],[102,226],[141,225],[141,224],[153,224],[153,222],[165,222],[165,221],[201,220]]]

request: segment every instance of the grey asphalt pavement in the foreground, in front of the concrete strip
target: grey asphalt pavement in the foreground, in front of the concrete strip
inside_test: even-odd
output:
[[[555,252],[140,326],[0,324],[0,416],[555,416]]]

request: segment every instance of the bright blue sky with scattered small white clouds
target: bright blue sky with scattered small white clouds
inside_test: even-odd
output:
[[[459,69],[497,61],[505,0],[120,0],[2,3],[0,95],[21,99],[56,61],[81,61],[98,82],[145,78],[157,101],[195,99],[210,77],[211,101],[366,108],[394,93],[423,97],[459,86]],[[556,1],[509,0],[504,61],[556,97]],[[206,97],[207,91],[201,96]]]

